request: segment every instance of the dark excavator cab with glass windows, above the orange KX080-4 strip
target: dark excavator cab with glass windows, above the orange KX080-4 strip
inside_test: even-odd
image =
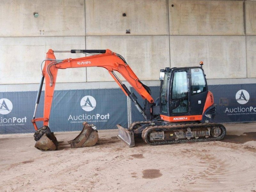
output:
[[[161,76],[160,114],[163,118],[202,115],[208,88],[201,67],[165,68]]]

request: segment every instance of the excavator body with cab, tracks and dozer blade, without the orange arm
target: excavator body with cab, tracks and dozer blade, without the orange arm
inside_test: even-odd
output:
[[[135,145],[132,133],[141,133],[150,145],[222,139],[225,127],[209,124],[216,114],[216,104],[208,90],[202,64],[201,67],[161,69],[160,97],[150,110],[153,118],[134,122],[128,130],[119,125],[121,137],[118,138],[129,147]]]

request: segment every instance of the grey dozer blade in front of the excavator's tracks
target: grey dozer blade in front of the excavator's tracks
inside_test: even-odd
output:
[[[116,125],[119,132],[117,135],[117,138],[124,142],[125,145],[128,147],[134,147],[134,133],[132,131],[128,131],[127,129],[124,129],[121,125]]]

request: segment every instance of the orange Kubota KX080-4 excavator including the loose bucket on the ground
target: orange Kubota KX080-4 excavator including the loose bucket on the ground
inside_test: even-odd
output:
[[[85,53],[91,56],[56,60],[54,52]],[[128,129],[117,125],[117,137],[129,147],[133,147],[134,134],[140,134],[150,145],[186,143],[220,140],[226,134],[222,124],[209,123],[216,114],[216,104],[213,95],[208,91],[203,62],[200,67],[165,68],[160,70],[160,97],[154,101],[148,86],[141,83],[124,58],[110,50],[71,50],[53,51],[50,49],[44,60],[42,79],[36,98],[36,107],[31,122],[36,130],[35,147],[40,150],[56,150],[58,141],[48,127],[52,99],[58,69],[79,67],[102,67],[108,70],[126,96],[135,104],[144,117],[144,121],[134,122]],[[44,62],[43,61],[43,62]],[[42,62],[42,63],[43,63]],[[145,99],[142,108],[134,93],[123,84],[115,71],[118,71],[126,81]],[[36,117],[36,110],[45,78],[44,116]],[[43,121],[43,127],[37,128],[36,122]],[[79,135],[68,141],[71,148],[93,146],[98,141],[98,132],[94,125],[83,123]]]

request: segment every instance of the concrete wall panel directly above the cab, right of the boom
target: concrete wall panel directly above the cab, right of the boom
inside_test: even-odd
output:
[[[171,67],[199,66],[206,77],[246,78],[245,36],[170,36]]]

